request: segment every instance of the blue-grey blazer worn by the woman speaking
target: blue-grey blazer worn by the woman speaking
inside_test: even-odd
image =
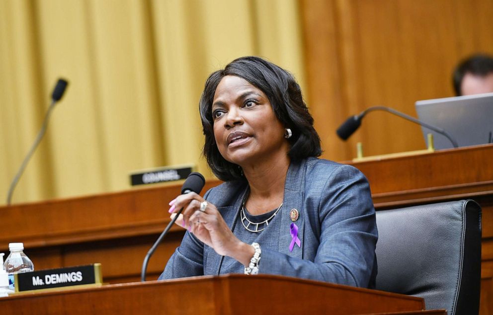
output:
[[[207,191],[230,229],[246,194],[246,181],[223,183]],[[297,209],[301,247],[289,250]],[[350,165],[319,158],[292,162],[284,188],[278,250],[262,248],[259,273],[314,279],[358,287],[375,287],[377,226],[370,187]],[[262,246],[262,244],[260,244]],[[186,232],[160,279],[217,275],[223,256]]]

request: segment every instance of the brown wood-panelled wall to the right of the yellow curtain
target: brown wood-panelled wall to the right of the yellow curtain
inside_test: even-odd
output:
[[[453,96],[451,74],[473,52],[493,54],[491,0],[302,0],[310,108],[324,157],[424,149],[421,130],[384,112],[365,118],[347,143],[349,115],[384,105],[415,116],[414,102]]]

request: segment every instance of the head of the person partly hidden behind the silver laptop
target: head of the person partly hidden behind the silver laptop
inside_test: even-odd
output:
[[[493,92],[493,57],[478,54],[461,61],[452,80],[457,96]]]

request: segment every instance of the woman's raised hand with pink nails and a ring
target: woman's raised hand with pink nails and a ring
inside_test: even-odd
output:
[[[214,248],[218,254],[233,257],[247,266],[255,249],[231,232],[216,206],[207,203],[201,211],[201,203],[204,201],[204,198],[194,192],[179,195],[169,203],[169,213],[174,214],[183,208],[182,217],[180,215],[181,218],[176,220],[178,225],[188,228],[189,232]]]

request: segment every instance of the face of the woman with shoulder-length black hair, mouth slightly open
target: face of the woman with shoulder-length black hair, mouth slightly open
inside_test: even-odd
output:
[[[226,160],[245,167],[287,156],[284,126],[262,90],[245,79],[226,76],[212,102],[214,137]]]

